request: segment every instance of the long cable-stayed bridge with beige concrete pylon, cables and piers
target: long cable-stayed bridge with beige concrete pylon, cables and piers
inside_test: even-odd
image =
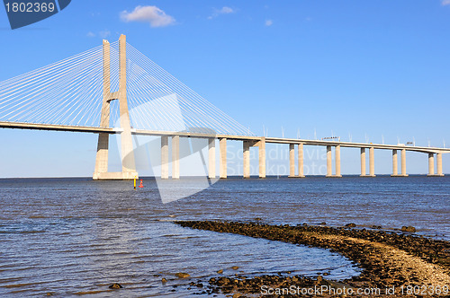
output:
[[[406,152],[428,154],[428,175],[443,176],[442,154],[450,149],[255,136],[246,127],[179,82],[126,42],[110,44],[0,83],[0,127],[98,134],[94,180],[138,177],[133,135],[160,136],[161,178],[180,177],[180,137],[208,140],[208,176],[216,177],[215,143],[220,144],[220,178],[227,178],[227,140],[243,142],[244,178],[250,177],[250,147],[258,148],[259,177],[266,178],[266,143],[289,145],[290,177],[304,177],[303,146],[327,147],[327,177],[341,177],[341,147],[361,149],[361,176],[374,177],[374,150],[392,150],[392,176],[406,177]],[[120,172],[108,171],[112,134],[120,134]],[[295,147],[297,146],[297,162]],[[335,148],[333,173],[332,147]],[[366,172],[365,153],[369,153]],[[401,171],[398,152],[401,152]],[[435,155],[436,170],[435,171]],[[297,163],[297,170],[295,164]]]

